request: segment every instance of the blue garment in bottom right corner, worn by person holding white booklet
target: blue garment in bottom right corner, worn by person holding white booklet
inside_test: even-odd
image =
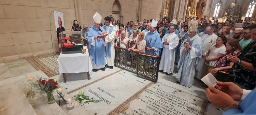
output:
[[[256,88],[240,103],[240,110],[229,109],[223,115],[256,115]]]

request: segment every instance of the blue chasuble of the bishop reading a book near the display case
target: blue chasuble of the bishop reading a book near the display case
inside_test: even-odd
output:
[[[100,29],[102,31],[105,31],[105,29],[103,29],[102,27],[100,27]],[[89,29],[88,36],[87,36],[88,42],[89,42],[89,48],[90,48],[90,56],[92,57],[93,64],[96,64],[96,66],[106,64],[106,61],[105,61],[106,47],[103,44],[103,42],[105,41],[99,38],[95,40],[95,46],[91,45],[91,41],[94,40],[94,37],[97,37],[101,34],[102,32],[99,29],[97,29],[94,25],[92,28]]]

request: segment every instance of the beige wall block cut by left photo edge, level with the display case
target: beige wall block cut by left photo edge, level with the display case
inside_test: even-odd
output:
[[[0,33],[0,47],[14,45],[11,33]]]

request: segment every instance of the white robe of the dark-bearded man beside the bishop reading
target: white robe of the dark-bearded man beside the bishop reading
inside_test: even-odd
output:
[[[105,26],[105,25],[104,25]],[[107,65],[108,66],[114,66],[114,61],[115,61],[115,26],[113,26],[113,30],[110,32],[109,29],[110,27],[113,26],[110,24],[109,26],[106,26],[106,33],[109,33],[108,36],[105,37],[106,43],[111,42],[111,57],[106,57],[107,60]],[[108,44],[106,44],[106,51],[108,52]]]

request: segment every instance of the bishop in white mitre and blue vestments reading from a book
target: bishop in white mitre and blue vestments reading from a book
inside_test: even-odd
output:
[[[90,59],[93,65],[93,71],[96,72],[97,69],[105,71],[104,67],[106,64],[106,41],[105,38],[97,38],[101,34],[106,34],[105,30],[100,27],[101,19],[99,13],[95,13],[93,16],[94,26],[89,29],[88,32],[88,42],[90,45]]]

